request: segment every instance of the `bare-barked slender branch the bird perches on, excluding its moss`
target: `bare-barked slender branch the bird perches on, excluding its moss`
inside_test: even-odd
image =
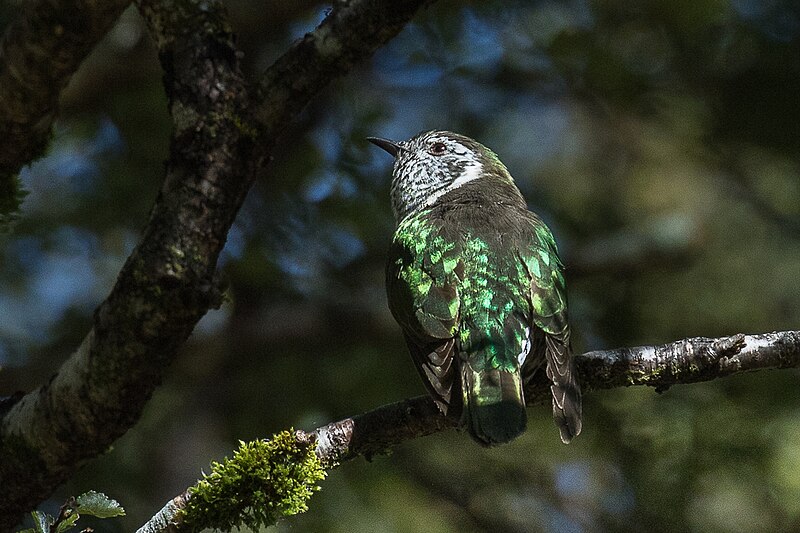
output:
[[[741,372],[800,367],[800,331],[737,334],[716,339],[694,337],[658,346],[587,352],[576,359],[585,391],[631,385],[647,385],[661,391],[672,385],[710,381]],[[535,383],[526,394],[529,405],[552,401],[546,380]],[[315,445],[323,464],[335,467],[343,461],[359,456],[369,458],[407,440],[453,427],[455,424],[441,415],[430,397],[419,396],[314,431],[297,431],[295,436],[301,444]],[[190,498],[190,490],[184,491],[137,533],[181,531],[179,511]]]

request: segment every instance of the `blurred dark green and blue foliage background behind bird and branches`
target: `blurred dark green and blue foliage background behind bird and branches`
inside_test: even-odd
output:
[[[253,74],[328,7],[226,3]],[[500,155],[560,243],[577,351],[797,329],[798,95],[794,1],[435,3],[290,126],[229,235],[227,303],[46,508],[103,491],[128,517],[97,531],[131,531],[238,439],[423,393],[385,304],[390,160],[367,135],[451,129]],[[62,102],[0,236],[0,394],[78,345],[155,199],[171,126],[135,10]],[[790,370],[592,393],[570,446],[545,407],[501,448],[419,439],[333,471],[278,529],[796,531],[799,385]]]

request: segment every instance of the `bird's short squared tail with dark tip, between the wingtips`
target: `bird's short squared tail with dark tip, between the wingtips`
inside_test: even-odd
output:
[[[461,366],[464,396],[462,420],[469,434],[484,446],[511,441],[525,431],[528,417],[519,370],[476,370]]]

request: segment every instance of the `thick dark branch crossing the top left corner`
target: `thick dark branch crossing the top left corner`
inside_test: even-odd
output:
[[[0,216],[16,175],[44,152],[58,97],[130,0],[34,0],[0,41]]]

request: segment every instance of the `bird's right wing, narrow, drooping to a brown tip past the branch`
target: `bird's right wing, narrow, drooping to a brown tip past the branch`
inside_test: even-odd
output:
[[[581,431],[581,392],[576,380],[567,321],[567,292],[563,265],[552,233],[538,218],[531,216],[530,245],[521,260],[530,277],[531,322],[543,333],[544,342],[533,342],[523,374],[530,378],[542,364],[544,351],[547,378],[553,395],[553,417],[561,440],[569,442]],[[534,335],[538,337],[538,335]]]

